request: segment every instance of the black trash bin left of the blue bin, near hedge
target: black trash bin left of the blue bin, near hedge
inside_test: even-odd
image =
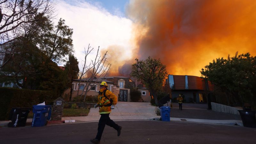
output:
[[[28,113],[31,108],[12,108],[9,116],[10,122],[8,127],[25,126],[28,118]]]

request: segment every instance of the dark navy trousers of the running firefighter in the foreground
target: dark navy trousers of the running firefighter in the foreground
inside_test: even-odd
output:
[[[119,129],[119,125],[117,125],[113,120],[109,118],[109,114],[100,114],[100,115],[101,116],[98,124],[98,133],[96,135],[97,140],[101,139],[101,135],[104,131],[106,124],[110,127],[113,127],[116,131]]]

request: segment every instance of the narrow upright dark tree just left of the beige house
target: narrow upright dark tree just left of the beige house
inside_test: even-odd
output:
[[[72,86],[72,80],[78,78],[79,73],[79,67],[78,67],[78,61],[76,57],[72,54],[69,55],[68,61],[65,64],[65,72],[67,73],[68,78],[68,87]]]

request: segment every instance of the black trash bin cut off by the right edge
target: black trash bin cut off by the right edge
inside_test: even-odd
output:
[[[238,110],[245,127],[256,128],[255,111],[251,110]]]

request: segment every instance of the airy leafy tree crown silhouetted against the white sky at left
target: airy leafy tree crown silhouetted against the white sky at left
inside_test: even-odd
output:
[[[55,27],[49,25],[47,31],[42,34],[38,42],[39,48],[52,61],[64,61],[63,57],[74,52],[72,34],[73,29],[65,25],[65,20],[60,19]]]

